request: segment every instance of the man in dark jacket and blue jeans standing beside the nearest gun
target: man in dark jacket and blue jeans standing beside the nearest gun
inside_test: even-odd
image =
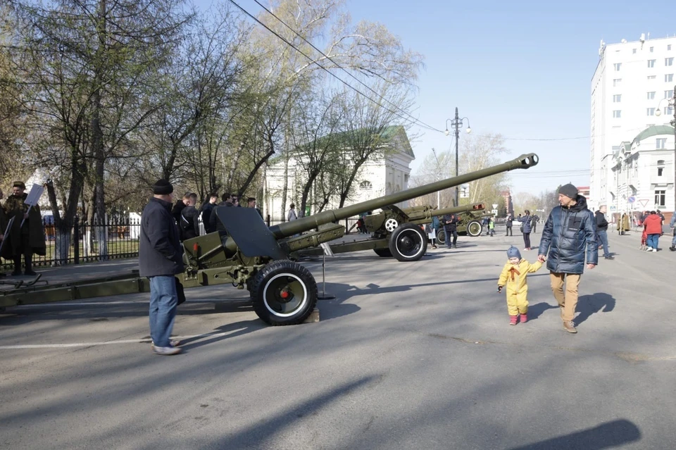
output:
[[[178,228],[171,215],[173,192],[167,180],[155,183],[153,196],[143,208],[139,237],[139,275],[150,280],[150,336],[159,355],[181,351],[179,342],[170,341],[178,304],[174,275],[184,270]]]

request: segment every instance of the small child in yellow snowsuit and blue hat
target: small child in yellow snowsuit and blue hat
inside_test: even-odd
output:
[[[516,325],[517,315],[521,315],[521,323],[528,320],[528,285],[526,277],[529,273],[537,272],[542,267],[540,261],[534,264],[521,258],[519,249],[509,247],[507,251],[509,261],[502,268],[498,280],[498,292],[503,286],[507,287],[507,311],[509,313],[509,325]]]

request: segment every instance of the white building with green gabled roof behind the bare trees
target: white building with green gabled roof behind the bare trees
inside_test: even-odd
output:
[[[356,192],[349,197],[345,206],[356,204],[360,201],[374,199],[379,196],[399,192],[408,189],[408,179],[411,175],[411,161],[415,159],[411,143],[408,142],[406,131],[401,126],[387,127],[382,133],[384,137],[384,157],[373,158],[361,166],[353,186]],[[348,162],[349,163],[349,162]],[[290,204],[296,205],[296,212],[300,215],[301,187],[303,173],[299,170],[299,161],[292,156],[289,158],[287,170],[287,199],[284,209],[288,211]],[[270,165],[265,171],[265,187],[263,192],[263,214],[270,214],[273,218],[286,217],[282,211],[282,195],[284,192],[284,161],[280,158]],[[315,195],[311,192],[307,206],[310,213],[315,211]],[[332,198],[324,208],[337,208],[338,196]],[[406,208],[408,201],[396,204],[400,208]]]

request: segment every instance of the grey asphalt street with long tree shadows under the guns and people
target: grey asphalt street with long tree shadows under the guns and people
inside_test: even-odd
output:
[[[582,277],[569,335],[544,269],[529,277],[529,322],[508,325],[496,280],[508,246],[523,244],[499,233],[417,263],[327,259],[337,299],[319,302],[319,323],[268,327],[246,291],[189,289],[173,357],[151,353],[148,294],[11,308],[0,315],[0,447],[672,449],[670,236],[646,253],[639,233],[609,232],[616,259]],[[321,260],[305,264],[321,292]]]

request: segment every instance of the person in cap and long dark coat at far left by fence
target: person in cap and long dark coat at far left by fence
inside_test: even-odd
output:
[[[44,227],[39,206],[30,208],[25,204],[28,194],[25,194],[26,185],[23,181],[15,181],[12,186],[12,195],[7,198],[2,208],[6,214],[6,220],[14,218],[11,230],[5,239],[8,241],[2,248],[2,256],[13,259],[14,271],[12,275],[21,275],[21,255],[25,264],[25,275],[37,275],[32,269],[33,254],[46,254],[44,244]],[[21,222],[25,219],[23,227]]]

